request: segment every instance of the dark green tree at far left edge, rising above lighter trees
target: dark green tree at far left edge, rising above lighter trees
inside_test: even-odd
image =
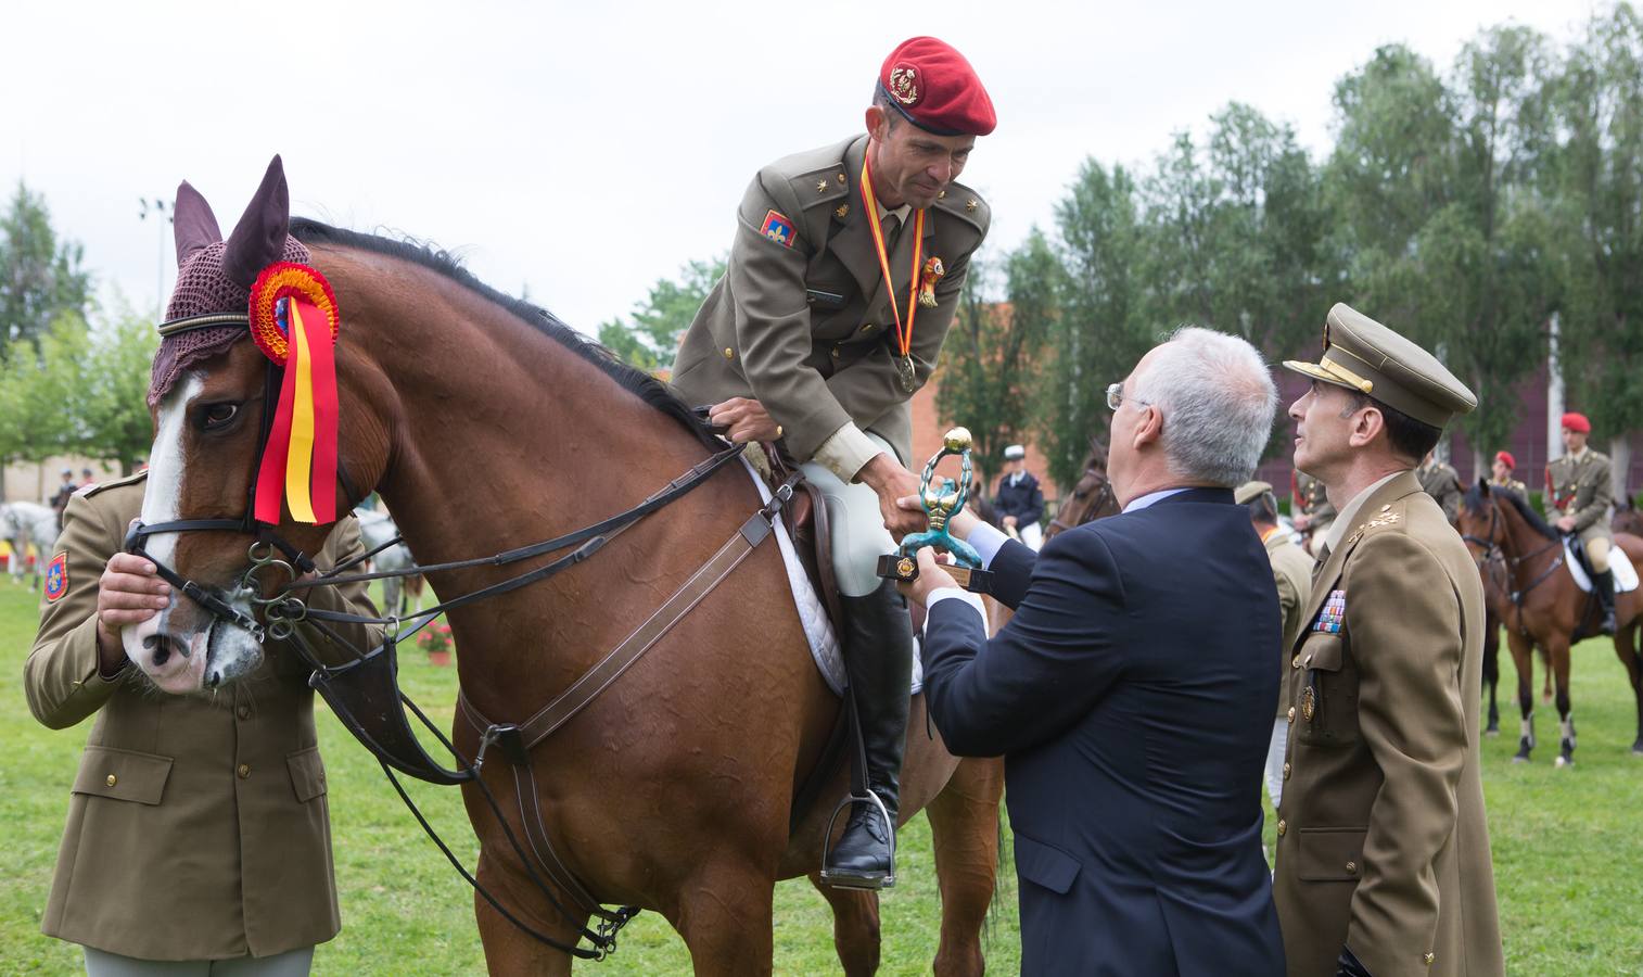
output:
[[[0,219],[0,350],[39,336],[62,314],[85,314],[90,275],[81,268],[84,248],[58,242],[44,197],[21,183]]]

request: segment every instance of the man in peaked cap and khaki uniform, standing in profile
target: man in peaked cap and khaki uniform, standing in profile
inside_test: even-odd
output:
[[[1477,398],[1337,304],[1293,406],[1341,516],[1291,645],[1273,898],[1291,977],[1505,970],[1479,778],[1484,589],[1416,462]]]

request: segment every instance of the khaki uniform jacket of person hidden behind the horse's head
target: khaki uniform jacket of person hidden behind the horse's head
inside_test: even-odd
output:
[[[271,641],[258,671],[215,696],[158,692],[131,664],[99,674],[97,581],[145,484],[146,472],[69,500],[56,546],[67,592],[41,605],[25,666],[39,722],[66,729],[97,715],[41,931],[154,961],[265,957],[327,941],[340,921],[309,669]],[[353,553],[363,548],[350,516],[317,563]],[[312,594],[314,607],[375,615],[363,586]]]

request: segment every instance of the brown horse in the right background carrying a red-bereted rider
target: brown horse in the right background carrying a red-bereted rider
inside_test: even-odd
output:
[[[1518,669],[1518,707],[1523,729],[1515,760],[1526,762],[1535,748],[1535,696],[1531,688],[1535,645],[1546,650],[1556,683],[1561,743],[1558,766],[1574,763],[1574,720],[1569,717],[1569,645],[1590,633],[1595,600],[1582,594],[1564,566],[1562,538],[1515,492],[1492,490],[1479,480],[1466,493],[1461,507],[1461,535],[1472,556],[1480,561],[1485,586],[1489,561],[1498,553],[1505,576],[1497,590],[1505,592],[1500,618],[1507,627],[1507,643]],[[1615,536],[1615,546],[1633,563],[1643,559],[1643,539]],[[1643,753],[1643,590],[1618,594],[1615,600],[1615,655],[1627,669],[1638,709],[1638,739],[1633,753]]]

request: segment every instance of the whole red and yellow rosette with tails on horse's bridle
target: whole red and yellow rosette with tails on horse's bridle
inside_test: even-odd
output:
[[[278,525],[281,497],[299,523],[337,520],[337,296],[307,265],[278,262],[251,286],[251,339],[284,367],[279,406],[256,472],[256,521]]]

